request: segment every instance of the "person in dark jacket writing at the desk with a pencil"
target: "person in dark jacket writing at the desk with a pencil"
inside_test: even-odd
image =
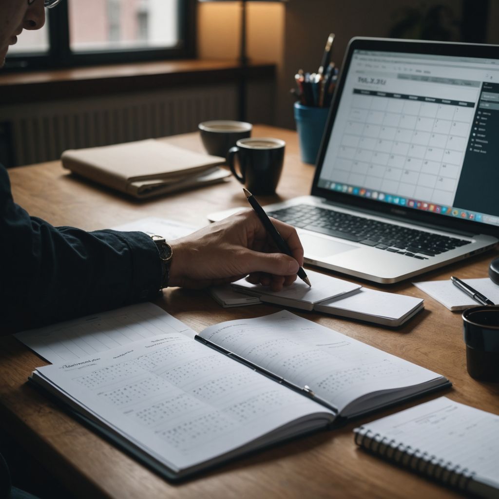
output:
[[[45,0],[51,7],[57,0]],[[0,61],[23,29],[45,22],[43,0],[0,0]],[[0,167],[0,317],[2,332],[37,327],[135,301],[165,286],[199,288],[250,274],[279,290],[296,278],[303,250],[293,228],[274,221],[293,257],[274,247],[251,210],[191,236],[157,244],[140,232],[52,227],[11,196]],[[171,259],[163,263],[165,254]]]

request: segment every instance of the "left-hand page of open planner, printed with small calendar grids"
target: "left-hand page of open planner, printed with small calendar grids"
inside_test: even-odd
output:
[[[327,410],[184,335],[37,369],[94,417],[172,469],[240,447]],[[99,416],[100,415],[100,416]]]

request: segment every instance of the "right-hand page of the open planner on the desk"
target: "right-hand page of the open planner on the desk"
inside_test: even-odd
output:
[[[339,411],[362,395],[441,378],[286,310],[222,322],[199,336],[298,387],[307,385]]]

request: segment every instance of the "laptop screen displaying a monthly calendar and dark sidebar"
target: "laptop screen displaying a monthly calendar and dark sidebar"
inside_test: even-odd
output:
[[[354,49],[319,188],[499,226],[499,59]]]

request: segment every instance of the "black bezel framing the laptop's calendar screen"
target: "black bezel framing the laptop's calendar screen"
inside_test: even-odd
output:
[[[373,50],[385,52],[406,52],[421,53],[429,55],[451,55],[457,57],[477,57],[491,58],[499,61],[499,45],[483,45],[471,43],[453,43],[453,42],[429,42],[421,40],[396,40],[390,38],[366,38],[355,37],[350,40],[341,65],[338,82],[329,109],[329,114],[322,136],[319,153],[316,160],[316,170],[312,182],[311,195],[325,198],[327,201],[339,203],[341,205],[351,206],[356,209],[369,210],[377,212],[380,215],[387,215],[395,218],[403,217],[421,224],[429,224],[442,227],[442,229],[451,229],[470,234],[488,234],[499,237],[499,227],[476,222],[472,220],[463,220],[441,215],[433,212],[426,212],[414,208],[407,208],[399,205],[392,205],[381,201],[371,200],[369,198],[359,197],[338,191],[330,191],[318,187],[320,172],[324,164],[327,144],[334,125],[341,94],[345,86],[345,79],[350,67],[354,50]],[[463,207],[463,210],[465,208]],[[490,214],[492,215],[492,214]]]

